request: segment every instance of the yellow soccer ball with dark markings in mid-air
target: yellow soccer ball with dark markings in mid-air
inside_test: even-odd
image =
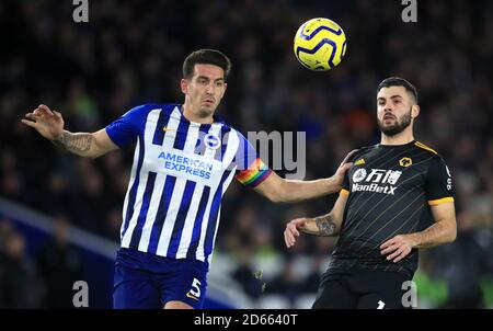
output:
[[[341,62],[346,53],[346,35],[329,19],[305,22],[295,35],[296,58],[310,70],[325,71]]]

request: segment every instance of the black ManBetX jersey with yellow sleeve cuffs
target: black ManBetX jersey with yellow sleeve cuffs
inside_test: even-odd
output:
[[[365,147],[352,161],[341,192],[348,199],[329,269],[395,271],[412,277],[417,250],[393,263],[379,247],[397,235],[431,226],[431,205],[454,202],[449,169],[419,141]]]

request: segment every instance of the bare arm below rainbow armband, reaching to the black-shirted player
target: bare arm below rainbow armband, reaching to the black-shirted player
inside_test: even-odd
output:
[[[272,173],[255,187],[255,191],[274,203],[296,203],[341,191],[344,174],[353,166],[348,158],[357,150],[351,151],[341,162],[333,176],[316,181],[285,180]]]

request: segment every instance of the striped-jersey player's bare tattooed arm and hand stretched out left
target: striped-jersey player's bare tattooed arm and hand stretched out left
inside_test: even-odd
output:
[[[32,113],[25,114],[25,117],[26,119],[22,119],[22,123],[35,128],[55,146],[81,157],[98,158],[118,148],[110,139],[105,129],[92,134],[73,134],[65,130],[61,114],[51,111],[44,104],[41,104]]]

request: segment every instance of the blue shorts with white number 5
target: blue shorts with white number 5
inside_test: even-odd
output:
[[[116,254],[113,308],[161,309],[168,301],[202,308],[208,264],[129,249]]]

